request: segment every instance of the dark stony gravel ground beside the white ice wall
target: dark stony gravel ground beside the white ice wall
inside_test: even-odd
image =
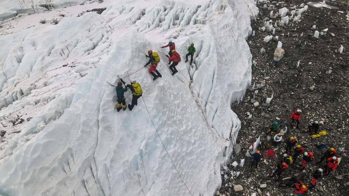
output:
[[[232,105],[233,111],[242,121],[237,140],[242,150],[238,156],[232,157],[228,167],[222,168],[222,187],[218,190],[218,195],[294,194],[294,188],[280,188],[274,180],[268,181],[261,178],[263,174],[272,173],[276,164],[280,163],[285,143],[278,146],[272,145],[276,153],[273,159],[266,158],[265,151],[261,151],[262,160],[258,169],[250,169],[252,159],[246,158],[245,152],[259,136],[261,140],[266,138],[266,130],[271,123],[278,121],[289,127],[290,115],[296,109],[302,110],[300,130],[289,128],[284,138],[289,139],[290,136],[296,136],[297,144],[302,145],[305,151],[312,151],[314,159],[307,164],[303,172],[298,170],[297,163],[293,163],[282,178],[295,176],[310,186],[313,171],[322,167],[322,164],[317,164],[316,161],[328,148],[333,147],[337,150],[336,156],[342,158],[340,165],[328,176],[322,176],[317,183],[319,187],[310,189],[307,195],[348,195],[349,172],[346,168],[348,166],[348,155],[346,154],[348,145],[346,144],[349,141],[349,21],[346,15],[349,14],[349,1],[326,1],[327,5],[335,6],[338,9],[309,6],[308,10],[302,14],[301,21],[292,22],[293,20],[290,20],[290,23],[284,27],[278,25],[274,36],[279,36],[279,41],[282,42],[282,48],[285,50],[279,62],[273,60],[277,40],[271,40],[268,43],[261,42],[266,36],[272,35],[272,32],[261,29],[265,19],[273,20],[272,24],[280,20],[280,17],[268,18],[270,11],[274,10],[275,14],[279,11],[278,9],[287,7],[290,16],[291,7],[306,2],[308,1],[273,2],[269,3],[274,5],[274,8],[270,9],[262,8],[263,5],[258,4],[259,18],[257,21],[252,21],[255,36],[249,37],[247,42],[253,55],[252,60],[257,62],[257,65],[252,67],[252,84],[262,83],[264,86],[248,90],[242,102]],[[316,25],[318,31],[328,28],[327,34],[320,35],[319,38],[309,36],[308,33],[315,31],[311,29],[313,25]],[[302,33],[303,36],[301,36]],[[344,46],[342,54],[339,53],[341,45]],[[260,52],[262,47],[266,50],[263,53]],[[298,61],[300,63],[297,67]],[[326,73],[330,68],[332,73]],[[262,109],[260,107],[262,103],[265,103],[266,98],[271,97],[273,93],[270,106]],[[255,97],[254,100],[251,100],[253,97]],[[258,102],[259,106],[254,107],[255,102]],[[248,119],[247,112],[252,114],[251,119]],[[269,115],[269,118],[262,116],[262,112]],[[321,125],[320,129],[326,130],[328,134],[319,140],[310,139],[309,134],[305,133],[307,126],[312,121],[321,120],[324,125]],[[315,145],[318,144],[327,144],[328,148],[317,150]],[[245,159],[244,167],[231,165],[234,161],[240,163],[240,159]],[[301,159],[298,157],[297,162]],[[237,177],[236,172],[240,172]],[[237,184],[242,185],[242,191],[234,191],[233,187]],[[260,184],[267,184],[267,186],[260,188]]]

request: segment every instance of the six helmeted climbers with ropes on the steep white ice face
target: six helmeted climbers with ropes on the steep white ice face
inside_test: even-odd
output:
[[[169,42],[167,45],[162,46],[161,48],[170,48],[170,52],[168,55],[165,55],[169,59],[169,65],[170,70],[172,71],[172,75],[178,73],[178,70],[176,69],[176,66],[181,61],[180,55],[176,52],[176,44],[174,42]],[[196,52],[194,43],[191,43],[188,47],[188,53],[186,54],[186,61],[188,62],[188,56],[191,56],[190,59],[190,65],[192,65],[193,62],[193,56]],[[160,52],[161,53],[161,52]],[[149,61],[144,65],[144,67],[148,66],[150,64],[149,73],[154,77],[153,80],[156,80],[159,77],[162,77],[160,72],[156,69],[157,64],[160,62],[160,56],[159,53],[153,52],[153,50],[148,50],[148,55],[146,55],[147,58],[149,58]],[[116,94],[117,94],[117,111],[119,112],[121,108],[126,110],[126,98],[124,96],[124,93],[130,89],[132,93],[132,101],[131,104],[128,104],[128,109],[132,111],[133,107],[137,105],[137,100],[142,96],[142,87],[139,83],[136,82],[136,80],[131,80],[131,84],[127,84],[120,79],[118,82],[118,86],[116,86]],[[122,84],[125,85],[125,88],[122,87]],[[122,107],[121,107],[122,104]]]

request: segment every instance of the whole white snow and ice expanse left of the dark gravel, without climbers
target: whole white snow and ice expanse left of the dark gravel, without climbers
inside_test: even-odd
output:
[[[63,7],[82,1],[54,2]],[[57,25],[31,27],[34,20],[30,28],[1,36],[0,127],[7,133],[0,144],[0,194],[189,195],[142,98],[132,112],[118,113],[115,90],[106,83],[143,67],[143,52],[165,53],[159,46],[169,40],[182,57],[177,69],[193,86],[180,73],[170,74],[163,55],[162,78],[154,82],[141,69],[124,80],[141,84],[150,116],[192,194],[214,194],[240,129],[230,105],[251,84],[245,38],[258,14],[254,3],[106,1],[102,15],[76,17],[83,6],[77,5],[66,8],[75,16]],[[5,4],[0,16],[18,12],[15,1]],[[20,25],[26,17],[33,15],[12,22]],[[184,56],[192,42],[190,66]],[[131,93],[125,97],[129,102]]]

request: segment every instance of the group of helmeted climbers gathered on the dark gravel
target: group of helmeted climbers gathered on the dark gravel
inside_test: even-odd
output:
[[[299,121],[301,117],[301,110],[295,110],[291,114],[291,128],[297,128],[299,129]],[[296,122],[296,125],[295,125]],[[308,126],[308,132],[310,132],[310,135],[315,134],[317,131],[319,131],[320,124],[318,121],[315,121],[312,123],[312,125]],[[270,132],[270,134],[273,134],[276,132],[277,134],[274,136],[273,143],[274,144],[279,144],[282,141],[282,137],[284,133],[278,133],[279,132],[279,123],[274,122],[272,125],[269,126],[269,129],[267,133]],[[282,131],[281,131],[282,132]],[[296,137],[290,137],[289,140],[286,141],[286,148],[283,153],[283,158],[282,160],[276,165],[275,171],[268,175],[269,178],[272,178],[276,176],[275,181],[278,181],[280,179],[280,176],[287,171],[289,166],[294,163],[297,159],[298,156],[302,156],[302,166],[299,168],[300,171],[303,171],[304,168],[306,167],[307,163],[313,160],[314,155],[313,152],[311,151],[304,151],[303,147],[297,144]],[[264,145],[264,143],[262,144]],[[270,146],[270,145],[268,145]],[[324,145],[325,146],[325,145]],[[270,148],[270,147],[269,147]],[[250,155],[253,157],[251,166],[250,168],[258,167],[258,162],[261,159],[260,151],[257,150],[255,153],[251,154],[250,151],[248,151]],[[292,153],[293,152],[293,153]],[[331,171],[337,168],[339,159],[335,156],[337,151],[334,148],[329,148],[323,155],[322,157],[317,161],[317,163],[321,164],[322,161],[325,160],[325,164],[323,165],[322,168],[317,168],[313,172],[313,179],[311,182],[311,186],[308,187],[306,186],[302,181],[298,181],[295,177],[292,177],[288,179],[286,182],[279,183],[279,186],[286,186],[286,187],[293,187],[295,188],[295,193],[298,194],[299,196],[305,195],[308,188],[314,188],[315,184],[317,183],[318,179],[320,176],[324,175],[327,176]]]

